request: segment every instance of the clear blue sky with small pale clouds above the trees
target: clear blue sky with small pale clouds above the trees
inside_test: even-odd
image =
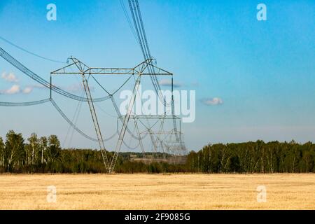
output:
[[[267,21],[256,19],[256,6],[261,2],[267,6]],[[57,21],[46,20],[48,3],[56,4]],[[190,150],[209,142],[315,141],[314,1],[139,3],[158,66],[172,71],[181,89],[196,90],[196,121],[183,125]],[[142,59],[118,0],[1,0],[0,27],[3,38],[53,59],[66,61],[73,55],[90,66],[109,67],[132,67]],[[27,55],[1,40],[0,46],[47,80],[50,71],[62,66]],[[0,59],[0,73],[10,72],[18,83],[1,78],[2,92],[12,85],[22,89],[36,84]],[[56,81],[67,88],[78,83],[75,78]],[[112,83],[109,81],[109,87]],[[29,94],[0,94],[0,101],[45,97],[48,91],[36,88]],[[214,97],[223,104],[204,104],[204,99]],[[62,97],[56,101],[72,118],[77,102]],[[50,104],[0,110],[2,137],[13,129],[25,136],[37,132],[65,139],[68,125]],[[104,118],[104,124],[111,123],[109,132],[111,127],[115,129],[112,120]],[[93,135],[91,125],[88,111],[83,109],[78,126]],[[69,146],[97,147],[76,134]]]

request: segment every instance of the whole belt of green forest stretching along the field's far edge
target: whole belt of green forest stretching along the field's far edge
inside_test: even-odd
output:
[[[152,154],[152,153],[148,153]],[[109,152],[109,156],[112,153]],[[315,172],[315,144],[295,141],[264,141],[239,144],[208,144],[190,151],[185,164],[133,162],[131,155],[120,153],[116,173],[309,173]],[[151,155],[153,156],[153,154]],[[161,158],[162,153],[154,155]],[[171,157],[172,155],[167,155]],[[62,149],[55,135],[24,139],[10,130],[0,137],[0,173],[106,173],[100,151]]]

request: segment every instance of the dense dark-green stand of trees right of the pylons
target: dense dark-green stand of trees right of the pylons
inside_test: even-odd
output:
[[[315,144],[295,141],[214,144],[190,152],[190,172],[309,173],[315,172]]]

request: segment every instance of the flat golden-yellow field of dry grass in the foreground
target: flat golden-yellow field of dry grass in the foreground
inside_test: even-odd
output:
[[[0,175],[0,209],[315,209],[315,174]]]

